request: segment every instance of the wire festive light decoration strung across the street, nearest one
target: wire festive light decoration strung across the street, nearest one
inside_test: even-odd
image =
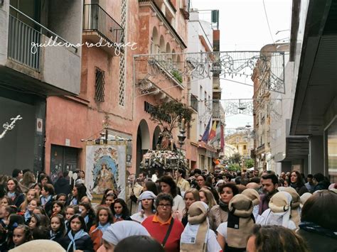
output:
[[[203,80],[216,77],[250,77],[253,70],[267,73],[260,79],[269,91],[284,94],[284,52],[234,51],[161,53],[134,55],[135,84],[151,92],[151,84],[173,80],[183,86],[183,77]],[[147,89],[146,89],[147,88]]]

